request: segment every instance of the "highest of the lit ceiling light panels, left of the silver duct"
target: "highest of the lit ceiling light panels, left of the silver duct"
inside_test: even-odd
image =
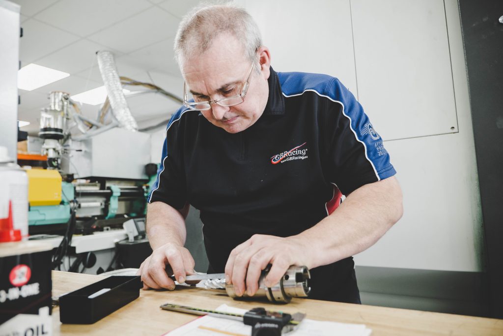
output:
[[[18,71],[18,88],[31,91],[68,76],[68,73],[30,63]]]

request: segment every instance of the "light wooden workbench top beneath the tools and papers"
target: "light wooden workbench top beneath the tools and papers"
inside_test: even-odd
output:
[[[52,295],[61,295],[101,279],[103,277],[52,271]],[[140,290],[140,297],[135,301],[94,324],[61,324],[59,307],[55,307],[52,311],[54,334],[161,335],[196,318],[160,309],[159,306],[166,302],[207,309],[225,303],[243,309],[262,306],[289,313],[302,311],[310,319],[366,324],[373,336],[503,335],[503,320],[499,319],[306,299],[293,299],[279,306],[265,301],[236,301],[222,291],[182,286],[173,292]]]

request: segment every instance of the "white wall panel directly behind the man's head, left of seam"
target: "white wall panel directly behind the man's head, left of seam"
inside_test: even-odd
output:
[[[350,0],[245,1],[279,72],[337,77],[355,96]]]

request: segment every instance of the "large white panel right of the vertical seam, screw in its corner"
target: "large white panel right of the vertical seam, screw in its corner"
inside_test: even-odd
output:
[[[458,131],[442,0],[352,0],[359,100],[384,140]]]

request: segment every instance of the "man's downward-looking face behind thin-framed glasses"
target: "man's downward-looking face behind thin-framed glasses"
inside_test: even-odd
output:
[[[262,55],[264,49],[267,50],[260,48],[258,54]],[[266,57],[261,56],[261,64],[256,62],[251,71],[244,101],[235,106],[212,104],[209,110],[201,111],[209,122],[229,133],[237,133],[260,118],[269,96],[269,50],[266,53]],[[265,62],[264,58],[267,58]],[[196,100],[212,101],[240,94],[250,66],[251,62],[236,38],[222,34],[215,38],[210,49],[187,60],[182,72],[188,91]],[[260,73],[257,68],[260,68]]]

